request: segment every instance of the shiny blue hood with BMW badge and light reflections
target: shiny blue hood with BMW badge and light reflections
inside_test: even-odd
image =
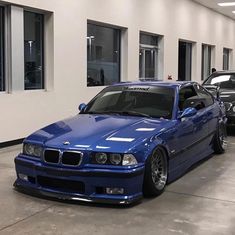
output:
[[[42,128],[27,140],[54,148],[125,152],[171,125],[165,119],[81,114]]]

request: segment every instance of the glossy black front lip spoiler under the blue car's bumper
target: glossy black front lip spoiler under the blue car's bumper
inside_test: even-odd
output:
[[[50,197],[50,198],[56,198],[59,200],[70,200],[70,201],[79,201],[79,202],[88,202],[88,203],[102,203],[102,204],[113,204],[113,205],[130,205],[135,202],[138,202],[139,200],[142,199],[142,196],[139,195],[137,197],[131,198],[131,199],[123,199],[123,200],[118,200],[118,199],[105,199],[105,198],[93,198],[89,196],[77,196],[77,195],[65,195],[60,192],[49,192],[46,190],[40,190],[40,189],[35,189],[35,188],[29,188],[27,186],[21,185],[15,181],[13,184],[15,189],[17,191],[20,191],[22,193],[30,194],[30,195],[35,195],[35,196],[42,196],[42,197]]]

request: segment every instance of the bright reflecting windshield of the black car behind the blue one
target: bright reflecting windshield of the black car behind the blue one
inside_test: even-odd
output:
[[[235,89],[235,74],[212,74],[204,84]]]

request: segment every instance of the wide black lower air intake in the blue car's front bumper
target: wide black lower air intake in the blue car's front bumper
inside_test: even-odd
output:
[[[84,193],[85,185],[80,181],[54,179],[45,176],[38,176],[37,182],[40,186],[63,192]]]

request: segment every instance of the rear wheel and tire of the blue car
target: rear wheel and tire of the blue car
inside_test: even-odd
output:
[[[214,136],[214,151],[221,154],[227,148],[227,130],[224,124],[219,124]]]

